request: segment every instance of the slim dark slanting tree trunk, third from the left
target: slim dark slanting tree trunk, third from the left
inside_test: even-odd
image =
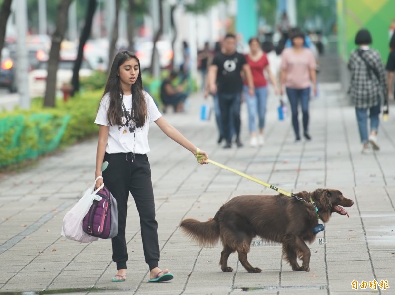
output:
[[[83,47],[86,44],[90,36],[90,30],[92,28],[92,20],[93,15],[96,11],[97,2],[96,0],[89,0],[88,9],[86,10],[85,17],[85,26],[81,32],[81,36],[79,37],[79,47],[77,53],[77,59],[74,62],[73,66],[73,77],[71,79],[72,91],[70,93],[71,96],[74,96],[74,93],[79,90],[79,69],[81,68],[82,60],[83,60]]]

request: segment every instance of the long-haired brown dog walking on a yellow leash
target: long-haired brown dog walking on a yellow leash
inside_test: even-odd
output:
[[[328,222],[332,212],[348,215],[341,206],[350,207],[354,202],[333,189],[317,189],[296,194],[306,201],[313,201],[318,216]],[[221,206],[214,218],[200,222],[185,219],[181,229],[203,247],[214,246],[220,239],[223,245],[219,264],[224,272],[232,271],[228,266],[231,253],[238,253],[238,259],[248,272],[260,272],[247,260],[251,241],[255,236],[282,243],[284,259],[295,271],[309,271],[310,249],[305,241],[312,243],[316,237],[313,228],[318,225],[314,205],[284,196],[238,196]],[[302,260],[299,266],[297,258]]]

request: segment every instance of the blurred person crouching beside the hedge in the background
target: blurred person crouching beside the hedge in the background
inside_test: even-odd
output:
[[[169,76],[165,78],[160,86],[160,98],[163,102],[163,112],[166,113],[167,106],[172,106],[175,113],[184,111],[184,102],[187,94],[183,92],[183,86],[173,85],[174,79],[177,78],[177,72],[171,71]]]

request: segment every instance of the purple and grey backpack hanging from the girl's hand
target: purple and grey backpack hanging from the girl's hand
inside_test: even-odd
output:
[[[88,213],[83,218],[82,229],[89,236],[111,239],[118,235],[117,201],[106,186],[96,195],[102,199],[93,200]]]

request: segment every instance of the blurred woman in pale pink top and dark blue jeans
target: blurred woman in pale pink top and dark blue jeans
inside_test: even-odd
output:
[[[291,36],[292,47],[282,52],[281,62],[281,95],[284,93],[283,85],[286,87],[287,96],[292,111],[292,126],[295,131],[296,142],[300,142],[298,104],[302,106],[303,135],[307,140],[311,139],[309,134],[309,100],[310,85],[316,95],[316,60],[309,48],[304,48],[305,36],[297,31]]]

